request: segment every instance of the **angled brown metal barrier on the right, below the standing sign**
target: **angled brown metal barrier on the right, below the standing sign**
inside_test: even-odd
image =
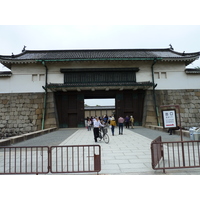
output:
[[[162,142],[161,137],[151,143],[154,170],[200,167],[200,141]]]

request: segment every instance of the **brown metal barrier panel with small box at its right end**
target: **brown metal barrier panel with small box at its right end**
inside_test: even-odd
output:
[[[86,173],[101,171],[99,145],[52,146],[51,173]]]

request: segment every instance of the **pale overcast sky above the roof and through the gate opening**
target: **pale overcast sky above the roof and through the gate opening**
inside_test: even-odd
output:
[[[27,50],[169,48],[200,51],[200,25],[1,25],[0,55]],[[200,66],[200,60],[192,67]],[[5,68],[3,68],[5,69]],[[113,105],[114,101],[86,102]]]

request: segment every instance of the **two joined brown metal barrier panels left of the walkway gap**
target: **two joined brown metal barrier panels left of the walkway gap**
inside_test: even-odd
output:
[[[101,171],[99,145],[0,147],[0,174]]]

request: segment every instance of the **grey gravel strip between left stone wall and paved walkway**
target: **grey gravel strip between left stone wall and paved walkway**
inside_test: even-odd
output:
[[[78,129],[59,129],[45,135],[13,144],[12,146],[57,146],[77,130]]]

